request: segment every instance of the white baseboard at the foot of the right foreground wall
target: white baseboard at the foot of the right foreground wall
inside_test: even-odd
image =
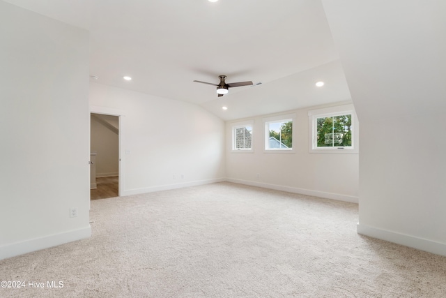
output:
[[[446,244],[428,239],[413,237],[407,234],[401,234],[398,232],[392,232],[387,230],[381,230],[371,227],[369,225],[357,224],[357,233],[365,236],[401,244],[411,248],[419,249],[420,251],[427,251],[428,253],[434,253],[436,255],[446,256]]]

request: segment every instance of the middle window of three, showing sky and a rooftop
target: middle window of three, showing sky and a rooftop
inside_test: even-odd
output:
[[[293,117],[274,117],[265,121],[265,150],[290,151],[293,149]]]

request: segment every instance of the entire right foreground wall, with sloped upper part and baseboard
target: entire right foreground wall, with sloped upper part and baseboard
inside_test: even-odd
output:
[[[361,123],[357,230],[446,255],[446,2],[323,4]]]

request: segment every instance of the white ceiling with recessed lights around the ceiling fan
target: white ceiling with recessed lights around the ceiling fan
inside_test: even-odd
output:
[[[224,120],[351,99],[320,0],[7,2],[89,30],[95,82],[195,103]],[[215,87],[192,82],[218,75],[262,84],[217,98]]]

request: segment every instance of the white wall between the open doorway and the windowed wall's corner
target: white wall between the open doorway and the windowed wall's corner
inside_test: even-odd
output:
[[[95,82],[90,105],[121,115],[121,195],[224,180],[224,122],[202,107]]]

